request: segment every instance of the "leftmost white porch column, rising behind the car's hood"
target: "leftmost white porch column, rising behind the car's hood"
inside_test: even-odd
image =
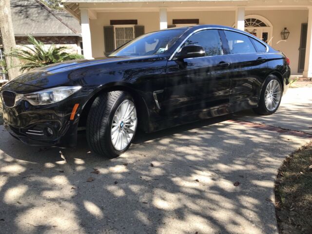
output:
[[[88,9],[80,9],[80,18],[81,18],[81,33],[83,43],[83,56],[85,59],[93,59]]]

